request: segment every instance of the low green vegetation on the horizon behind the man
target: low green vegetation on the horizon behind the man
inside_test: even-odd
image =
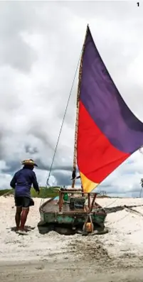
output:
[[[38,195],[37,192],[31,188],[31,197],[42,197],[42,198],[47,198],[47,197],[57,197],[58,196],[58,189],[59,187],[41,187],[41,192]],[[0,190],[0,196],[3,196],[4,194],[12,195],[14,193],[14,189],[5,189],[5,190]]]

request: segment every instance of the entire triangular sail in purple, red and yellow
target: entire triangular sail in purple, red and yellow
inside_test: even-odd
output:
[[[91,192],[143,144],[143,124],[118,92],[88,28],[83,50],[77,162]]]

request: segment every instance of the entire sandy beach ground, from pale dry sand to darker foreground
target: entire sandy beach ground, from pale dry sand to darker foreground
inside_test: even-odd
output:
[[[143,206],[107,215],[108,234],[82,237],[39,234],[41,199],[36,198],[26,224],[28,236],[16,234],[14,197],[0,197],[1,282],[143,281]],[[143,205],[143,199],[97,199],[102,207]]]

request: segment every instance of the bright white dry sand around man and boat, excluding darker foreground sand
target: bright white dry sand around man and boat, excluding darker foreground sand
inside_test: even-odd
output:
[[[96,239],[104,243],[105,248],[112,256],[124,254],[143,255],[143,206],[134,208],[141,214],[135,214],[127,210],[107,215],[105,226],[110,227],[110,233],[81,237],[61,236],[55,232],[41,235],[38,233],[37,224],[39,218],[39,205],[41,199],[34,199],[35,206],[31,207],[26,225],[35,227],[28,236],[19,236],[11,231],[15,227],[14,197],[0,197],[0,261],[26,261],[39,259],[69,259],[72,256],[69,244],[89,242],[92,247]],[[143,199],[97,199],[102,207],[117,205],[142,205]]]

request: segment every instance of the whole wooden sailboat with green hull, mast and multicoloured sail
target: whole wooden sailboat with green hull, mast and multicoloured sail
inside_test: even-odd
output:
[[[60,231],[68,227],[73,233],[93,232],[97,225],[104,229],[107,214],[95,202],[93,190],[142,143],[143,124],[122,99],[87,27],[78,79],[72,188],[61,189],[59,199],[41,205],[42,224]],[[80,190],[75,188],[77,165]]]

